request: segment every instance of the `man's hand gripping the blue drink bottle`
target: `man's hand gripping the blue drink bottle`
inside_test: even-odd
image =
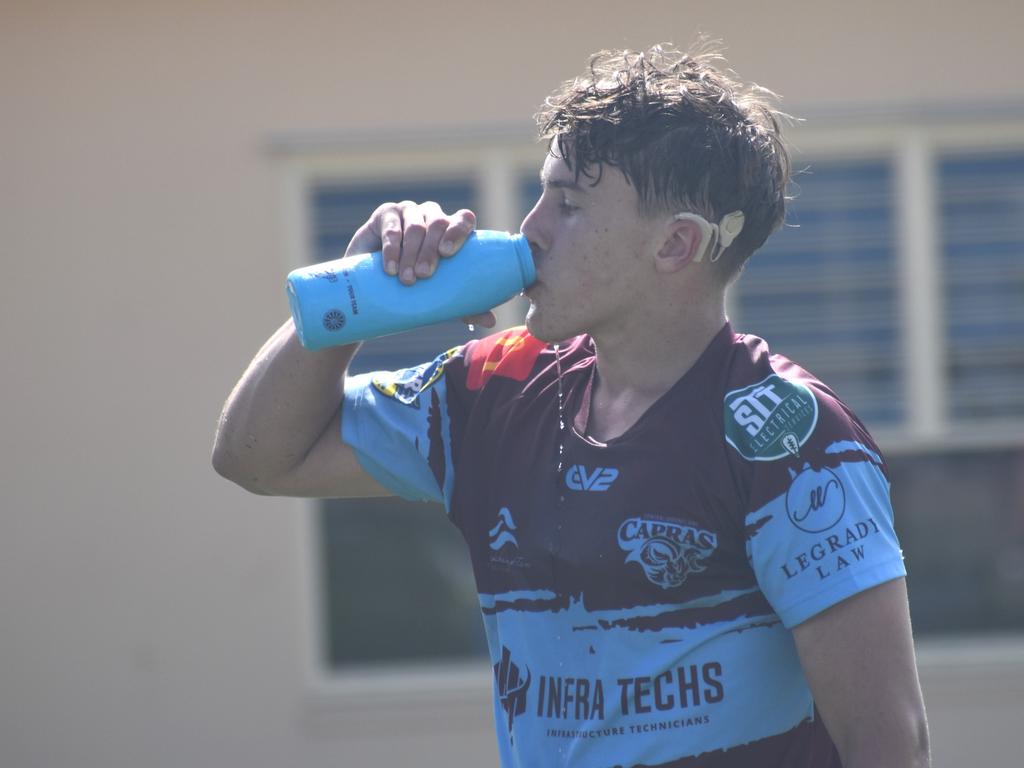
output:
[[[453,256],[476,227],[476,214],[462,208],[447,215],[433,202],[384,203],[352,236],[345,255],[381,251],[384,271],[412,286],[437,269],[440,258]],[[483,312],[463,322],[492,328],[494,312]]]

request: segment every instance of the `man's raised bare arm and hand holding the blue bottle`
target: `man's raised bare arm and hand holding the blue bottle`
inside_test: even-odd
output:
[[[385,268],[407,285],[433,274],[475,224],[469,211],[446,216],[435,203],[386,203],[346,254],[384,252]],[[494,325],[490,313],[471,318]],[[345,372],[357,344],[309,351],[291,319],[256,354],[227,398],[213,466],[254,494],[318,498],[386,496],[341,440]]]

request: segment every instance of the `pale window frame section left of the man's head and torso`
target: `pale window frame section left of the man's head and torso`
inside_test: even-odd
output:
[[[270,159],[280,189],[285,263],[283,269],[308,264],[311,253],[308,191],[323,181],[358,185],[382,181],[469,180],[479,203],[481,227],[517,231],[521,203],[519,183],[524,173],[537,173],[544,148],[528,140],[487,136],[358,136],[284,139],[271,142]],[[384,201],[381,201],[384,202]],[[367,212],[370,213],[369,211]],[[499,323],[518,322],[512,302],[498,311]],[[474,701],[489,707],[490,669],[478,658],[466,662],[393,663],[374,668],[336,670],[325,664],[325,616],[322,608],[323,562],[319,503],[294,502],[302,520],[301,553],[305,589],[302,595],[304,672],[307,705],[321,715],[343,712],[347,707],[387,708],[397,701],[428,699],[439,703]]]

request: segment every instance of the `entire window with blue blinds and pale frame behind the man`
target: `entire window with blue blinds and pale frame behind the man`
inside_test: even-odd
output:
[[[998,128],[998,141],[972,130],[803,135],[808,171],[788,225],[752,258],[731,307],[737,330],[820,377],[880,438],[914,618],[935,631],[1024,626],[1021,488],[1008,479],[1020,474],[1024,434],[1024,130]],[[468,207],[481,226],[515,228],[537,200],[542,153],[502,141],[297,151],[296,265],[340,257],[388,199]],[[990,146],[1002,148],[978,150]],[[523,309],[500,323],[521,323]],[[416,365],[469,336],[452,322],[378,339],[352,370]],[[468,555],[439,506],[332,500],[315,517],[329,671],[485,654]],[[983,593],[991,609],[973,601]]]

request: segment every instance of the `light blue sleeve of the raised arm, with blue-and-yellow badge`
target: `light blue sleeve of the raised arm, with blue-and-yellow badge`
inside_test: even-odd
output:
[[[345,381],[341,439],[381,485],[409,501],[451,504],[452,424],[444,368],[457,352]]]

